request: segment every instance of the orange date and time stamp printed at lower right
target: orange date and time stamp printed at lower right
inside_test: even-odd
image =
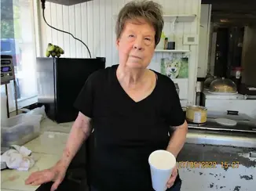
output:
[[[239,168],[239,161],[177,161],[177,168]]]

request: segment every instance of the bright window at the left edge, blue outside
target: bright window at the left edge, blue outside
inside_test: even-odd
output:
[[[13,56],[19,107],[26,105],[24,100],[36,100],[37,95],[33,2],[1,0],[1,55]],[[5,93],[5,85],[1,85],[1,91]],[[8,84],[8,93],[12,111],[15,110],[13,81]]]

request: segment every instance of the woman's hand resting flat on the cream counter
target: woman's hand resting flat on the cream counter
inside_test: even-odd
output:
[[[63,181],[68,167],[59,161],[53,168],[33,172],[25,181],[26,185],[42,185],[46,182],[54,182],[50,191],[54,191]]]

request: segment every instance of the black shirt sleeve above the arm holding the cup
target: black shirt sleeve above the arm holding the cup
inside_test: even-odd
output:
[[[180,126],[185,122],[185,114],[181,107],[180,98],[177,94],[176,87],[173,81],[170,81],[170,100],[169,100],[168,122],[170,126]]]

